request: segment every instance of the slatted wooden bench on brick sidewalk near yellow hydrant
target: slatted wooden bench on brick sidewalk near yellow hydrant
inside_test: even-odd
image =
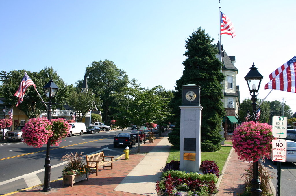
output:
[[[105,167],[111,167],[113,169],[113,158],[114,156],[104,156],[104,151],[91,154],[91,155],[85,155],[86,158],[86,166],[91,169],[96,169],[96,171],[90,171],[89,173],[96,173],[96,176],[98,175],[98,169],[99,167],[103,166],[103,169]],[[106,161],[104,158],[111,158],[111,161]],[[111,166],[106,166],[107,164],[111,164]]]

